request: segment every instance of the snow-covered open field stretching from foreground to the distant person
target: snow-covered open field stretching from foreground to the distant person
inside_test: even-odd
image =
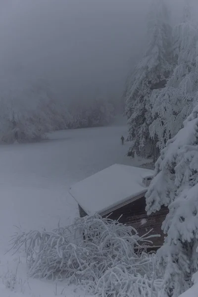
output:
[[[26,278],[26,264],[8,248],[15,226],[51,230],[69,225],[78,216],[69,187],[114,163],[138,166],[144,161],[126,157],[129,144],[125,119],[109,127],[59,131],[37,144],[0,146],[0,297],[79,297],[78,290]],[[17,270],[17,272],[16,272]],[[16,277],[14,290],[9,279]]]

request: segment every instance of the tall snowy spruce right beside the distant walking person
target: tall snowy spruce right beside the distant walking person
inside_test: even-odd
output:
[[[172,30],[168,10],[163,0],[153,0],[148,21],[148,46],[144,58],[137,65],[126,92],[125,114],[128,117],[129,136],[133,145],[128,155],[153,154],[153,140],[149,136],[151,123],[149,98],[152,90],[163,88],[171,72],[170,52]]]

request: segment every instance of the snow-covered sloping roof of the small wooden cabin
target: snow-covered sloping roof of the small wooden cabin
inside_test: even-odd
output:
[[[76,183],[69,193],[88,215],[104,215],[142,197],[147,192],[143,178],[153,174],[153,170],[114,164]]]

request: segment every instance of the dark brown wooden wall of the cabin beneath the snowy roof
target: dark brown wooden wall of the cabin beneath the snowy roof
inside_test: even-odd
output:
[[[134,227],[140,236],[153,229],[149,235],[160,235],[160,238],[155,237],[151,239],[153,246],[161,246],[164,241],[164,234],[161,230],[161,225],[168,213],[168,208],[162,207],[160,211],[157,211],[149,216],[147,215],[145,208],[146,198],[142,197],[114,210],[109,218],[117,220],[122,215],[119,222]]]

